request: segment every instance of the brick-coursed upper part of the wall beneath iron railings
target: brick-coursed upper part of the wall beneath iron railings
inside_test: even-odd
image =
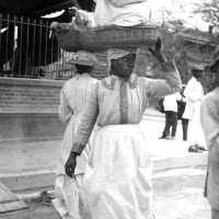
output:
[[[62,81],[1,79],[0,113],[56,113]]]

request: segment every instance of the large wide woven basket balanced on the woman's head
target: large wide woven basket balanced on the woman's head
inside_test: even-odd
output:
[[[103,51],[108,48],[153,46],[159,36],[159,27],[153,25],[104,26],[79,32],[64,23],[56,28],[56,37],[61,48],[67,51],[77,51],[79,49]]]

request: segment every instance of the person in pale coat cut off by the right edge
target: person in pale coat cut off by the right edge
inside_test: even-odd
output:
[[[208,147],[208,165],[205,196],[211,207],[211,219],[219,218],[219,61],[210,65],[211,77],[208,90],[200,105],[200,119]],[[210,74],[210,72],[209,72]]]

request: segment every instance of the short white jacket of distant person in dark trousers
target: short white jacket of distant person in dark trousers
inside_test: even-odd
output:
[[[164,111],[172,111],[177,113],[177,100],[181,99],[181,94],[178,92],[164,96],[163,107]]]

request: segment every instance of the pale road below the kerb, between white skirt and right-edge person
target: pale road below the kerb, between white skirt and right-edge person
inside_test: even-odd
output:
[[[155,174],[154,210],[158,219],[209,219],[203,197],[205,170],[178,169]]]

